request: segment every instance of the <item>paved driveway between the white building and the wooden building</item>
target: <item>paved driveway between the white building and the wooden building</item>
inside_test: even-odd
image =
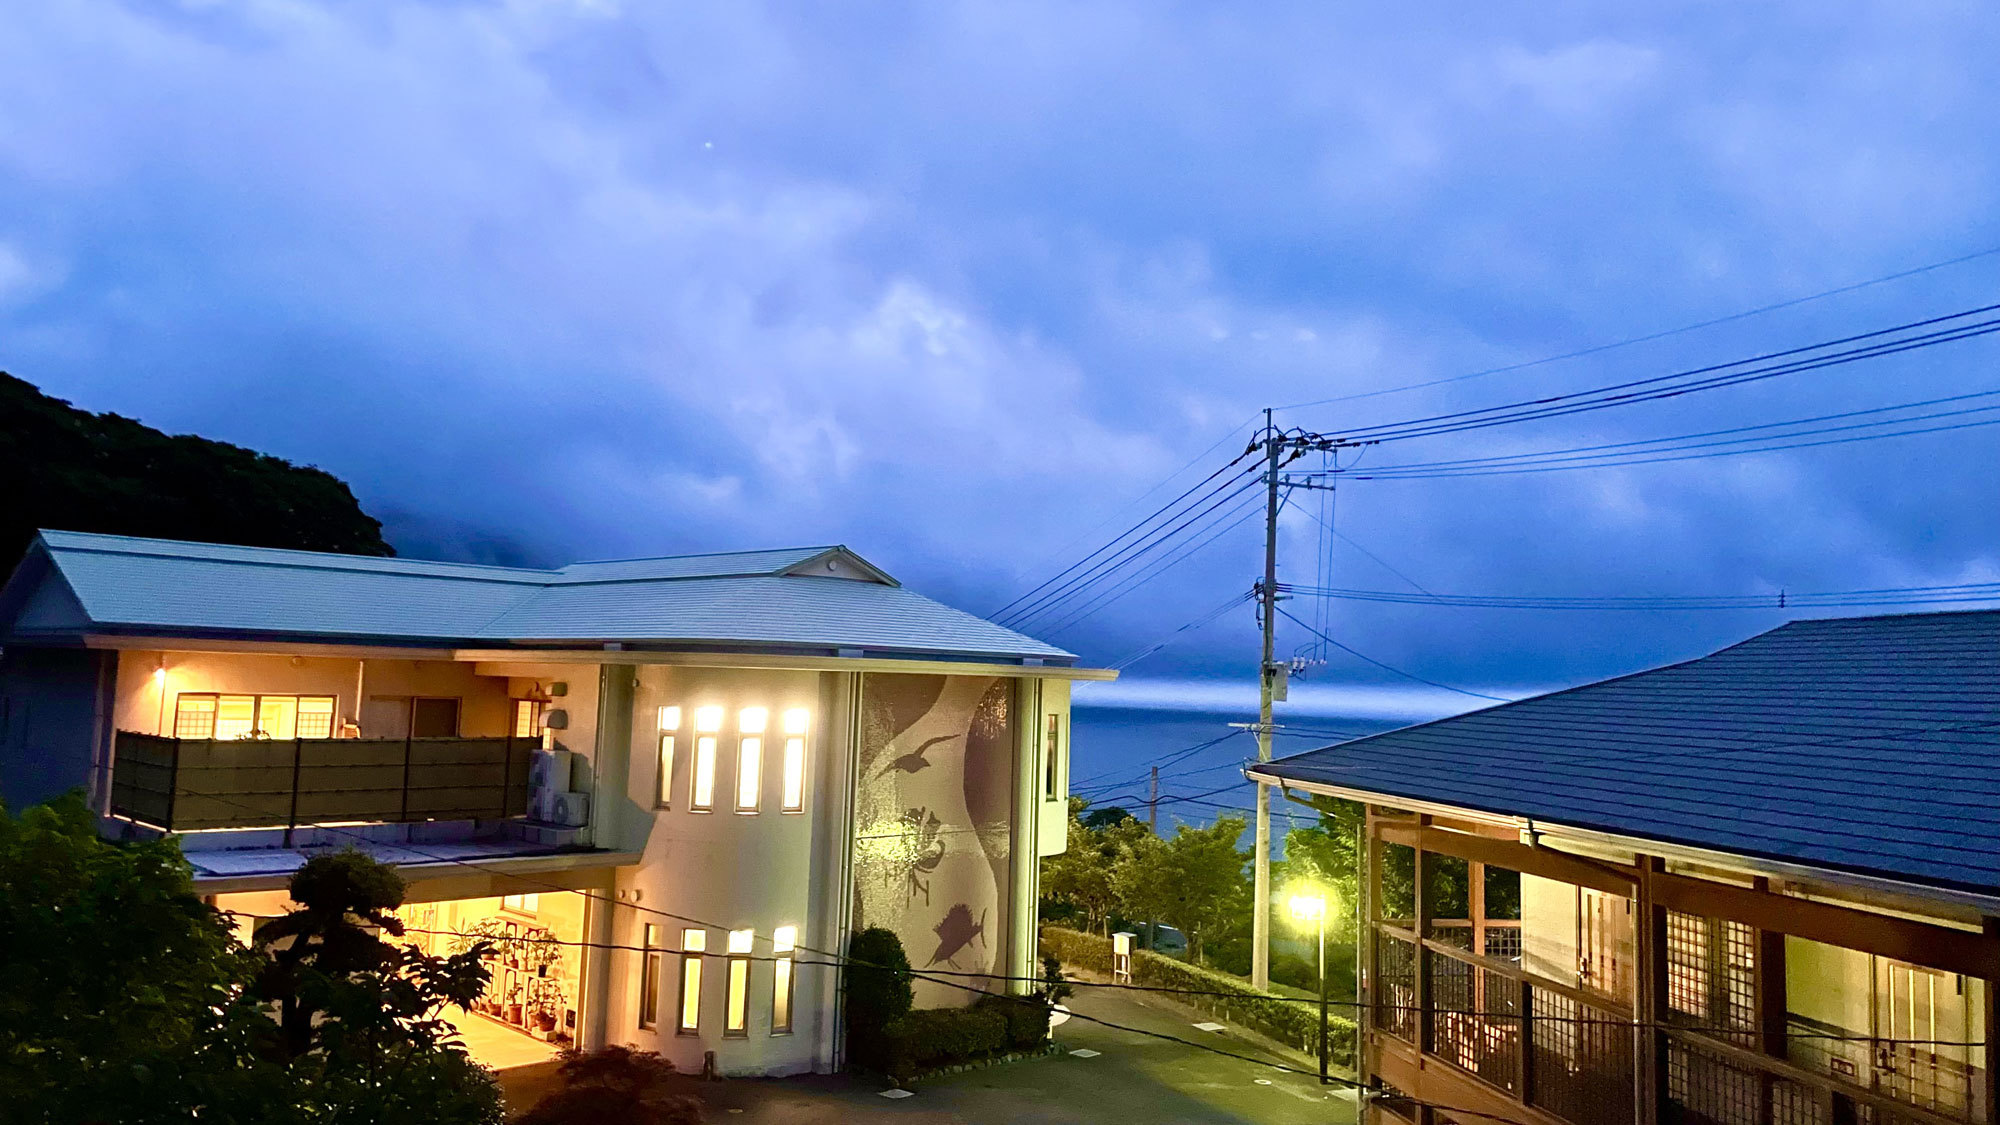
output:
[[[1088,993],[1070,1001],[1078,1019],[1056,1029],[1056,1039],[1072,1051],[1070,1055],[926,1079],[904,1099],[884,1099],[878,1085],[826,1075],[724,1083],[690,1079],[686,1089],[708,1103],[712,1123],[744,1125],[1354,1123],[1354,1097],[1340,1087],[1322,1089],[1316,1077],[1084,1019],[1106,1019],[1278,1061],[1268,1049],[1230,1031],[1196,1031],[1192,1021],[1204,1019],[1200,1015],[1188,1015],[1138,993],[1106,989],[1078,989],[1078,993]],[[1078,1049],[1098,1055],[1078,1057]]]

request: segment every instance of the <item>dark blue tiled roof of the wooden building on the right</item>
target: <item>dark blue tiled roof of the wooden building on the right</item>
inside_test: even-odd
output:
[[[1254,773],[2000,893],[2000,613],[1796,621]]]

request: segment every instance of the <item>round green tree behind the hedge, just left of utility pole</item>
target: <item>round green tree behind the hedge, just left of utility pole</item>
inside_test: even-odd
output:
[[[1112,867],[1122,913],[1178,929],[1188,957],[1202,961],[1202,943],[1250,905],[1250,853],[1236,851],[1244,827],[1242,817],[1220,817],[1208,827],[1180,825],[1164,841],[1152,833],[1132,841]]]

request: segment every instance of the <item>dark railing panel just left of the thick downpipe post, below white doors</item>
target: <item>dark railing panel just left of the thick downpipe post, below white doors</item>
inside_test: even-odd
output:
[[[1532,989],[1530,1101],[1578,1125],[1632,1121],[1632,1027],[1552,989]]]

